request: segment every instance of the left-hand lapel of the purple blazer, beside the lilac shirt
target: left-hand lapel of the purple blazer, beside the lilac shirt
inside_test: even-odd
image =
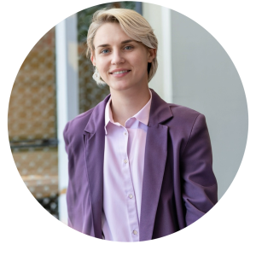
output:
[[[105,106],[109,96],[91,113],[84,129],[84,158],[90,184],[95,236],[102,239],[103,163],[105,145]]]

